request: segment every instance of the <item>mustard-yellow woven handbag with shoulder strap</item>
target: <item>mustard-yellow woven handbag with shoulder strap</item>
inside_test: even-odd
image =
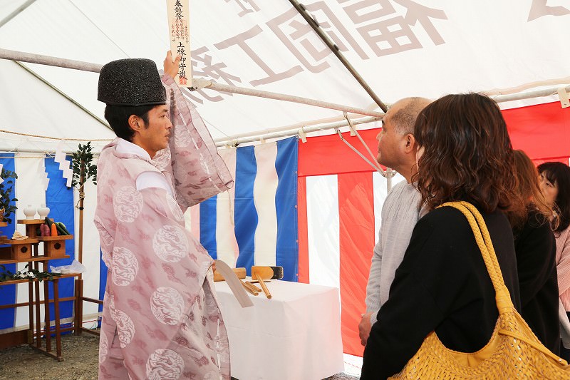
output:
[[[403,370],[390,379],[570,379],[570,366],[541,344],[514,309],[480,212],[468,202],[442,206],[455,207],[467,217],[495,289],[499,319],[489,343],[474,353],[447,349],[431,332]]]

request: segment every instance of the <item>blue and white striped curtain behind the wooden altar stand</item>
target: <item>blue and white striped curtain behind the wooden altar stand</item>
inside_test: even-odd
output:
[[[71,158],[67,158],[71,161]],[[16,220],[25,219],[24,208],[27,205],[32,207],[40,207],[46,204],[50,208],[49,217],[56,222],[63,222],[70,232],[76,231],[76,220],[78,220],[78,210],[75,208],[77,195],[73,188],[66,187],[66,180],[59,170],[59,164],[54,162],[53,158],[46,158],[44,155],[31,153],[0,154],[0,163],[4,165],[6,170],[13,170],[18,175],[18,179],[14,185],[15,197],[18,198],[17,206],[19,207],[16,215],[12,215],[12,222],[8,227],[0,227],[1,235],[11,237],[17,230],[23,235],[26,232],[24,225],[17,225]],[[47,190],[42,178],[48,175],[49,183]],[[93,225],[93,210],[96,201],[95,186],[92,183],[86,185],[86,210],[84,215],[84,234],[83,234],[83,264],[86,265],[86,272],[83,274],[85,281],[84,293],[86,297],[98,298],[99,283],[99,241],[98,235]],[[74,234],[77,237],[76,234]],[[70,265],[76,257],[76,238],[66,240],[66,255],[69,258],[51,260],[50,266],[58,267],[61,265]],[[43,255],[43,245],[39,245],[39,253]],[[6,269],[11,272],[24,269],[26,263],[18,265],[6,265]],[[47,270],[39,265],[40,270]],[[41,297],[43,298],[43,285],[40,287]],[[73,296],[73,278],[59,280],[59,297]],[[49,297],[53,299],[53,285],[49,284]],[[0,305],[28,302],[28,284],[6,285],[0,287]],[[97,305],[86,302],[84,307],[84,315],[95,314]],[[51,319],[54,318],[53,304],[50,312]],[[71,321],[73,317],[73,302],[66,301],[60,303],[60,317],[63,322]],[[94,315],[94,319],[96,316]],[[41,310],[41,320],[43,322],[43,309]],[[19,307],[17,309],[0,309],[0,332],[10,332],[18,327],[25,327],[28,324],[27,307]]]

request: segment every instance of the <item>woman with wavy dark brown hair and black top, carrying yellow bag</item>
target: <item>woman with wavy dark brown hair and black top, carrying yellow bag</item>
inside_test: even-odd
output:
[[[449,349],[475,352],[498,318],[495,291],[465,216],[445,202],[467,201],[481,212],[514,305],[519,282],[512,229],[503,211],[519,207],[513,153],[497,103],[476,93],[448,95],[418,116],[418,190],[430,209],[378,312],[364,350],[361,379],[398,373],[430,332]],[[516,201],[515,201],[516,200]]]

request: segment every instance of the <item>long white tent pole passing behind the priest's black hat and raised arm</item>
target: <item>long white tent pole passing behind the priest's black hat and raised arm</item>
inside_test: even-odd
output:
[[[88,63],[83,61],[72,61],[65,58],[56,58],[50,56],[41,56],[39,54],[32,54],[32,53],[23,53],[21,51],[13,51],[0,48],[0,58],[9,59],[12,61],[21,61],[21,62],[28,62],[28,63],[39,63],[42,65],[48,66],[58,66],[63,68],[73,68],[76,70],[83,70],[83,71],[93,71],[98,73],[101,71],[102,65],[98,65],[95,63]],[[288,101],[294,103],[301,103],[301,104],[308,104],[309,106],[317,106],[322,108],[330,108],[333,110],[338,111],[346,111],[350,113],[358,113],[360,115],[369,115],[369,116],[382,116],[383,113],[375,112],[375,111],[367,111],[361,108],[354,108],[349,106],[342,106],[341,104],[336,103],[328,103],[323,101],[317,101],[314,99],[308,98],[301,98],[299,96],[291,96],[285,95],[281,93],[272,93],[269,91],[260,91],[254,90],[252,88],[243,88],[237,86],[228,86],[220,83],[215,83],[212,81],[204,81],[201,79],[192,80],[192,85],[197,83],[195,88],[209,88],[211,90],[216,91],[223,91],[226,93],[239,93],[242,95],[249,95],[249,96],[258,96],[260,98],[269,98],[269,99],[276,99],[279,101]]]

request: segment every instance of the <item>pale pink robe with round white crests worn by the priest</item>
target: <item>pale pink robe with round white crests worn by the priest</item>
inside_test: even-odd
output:
[[[183,212],[233,180],[202,119],[170,76],[162,81],[170,148],[145,160],[118,153],[114,140],[98,161],[95,225],[109,268],[99,379],[229,379],[212,259],[185,229]],[[145,171],[165,174],[176,199],[161,188],[136,190]]]

